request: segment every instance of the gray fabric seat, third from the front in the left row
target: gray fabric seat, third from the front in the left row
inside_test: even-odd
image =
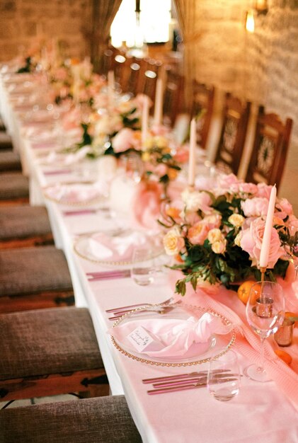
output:
[[[55,246],[0,251],[0,299],[70,289],[67,260]]]

